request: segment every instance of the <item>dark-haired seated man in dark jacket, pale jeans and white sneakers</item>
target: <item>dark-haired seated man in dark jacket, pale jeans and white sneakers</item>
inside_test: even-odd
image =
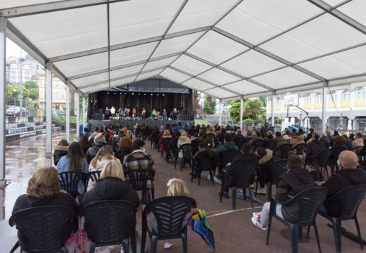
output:
[[[303,162],[300,156],[290,155],[287,160],[287,169],[289,170],[286,174],[283,174],[280,178],[281,180],[279,181],[276,195],[274,196],[276,200],[286,202],[297,193],[317,186],[313,176],[310,175],[308,170],[303,169]],[[270,202],[266,202],[263,205],[262,212],[253,213],[251,219],[255,226],[264,231],[267,230],[270,204]],[[291,223],[298,222],[298,211],[299,207],[297,203],[292,203],[291,205],[277,203],[276,205],[276,214]]]

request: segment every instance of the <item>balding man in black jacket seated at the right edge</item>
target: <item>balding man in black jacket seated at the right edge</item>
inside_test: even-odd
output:
[[[333,174],[325,183],[320,183],[321,186],[327,187],[327,198],[320,210],[334,217],[341,216],[343,200],[331,201],[329,198],[348,186],[366,184],[366,171],[357,168],[358,156],[355,153],[348,150],[343,151],[339,154],[338,163],[339,172]]]

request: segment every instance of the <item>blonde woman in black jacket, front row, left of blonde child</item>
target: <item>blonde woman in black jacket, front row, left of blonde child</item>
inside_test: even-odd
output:
[[[100,179],[96,181],[92,190],[85,193],[80,208],[98,200],[126,200],[134,203],[136,209],[140,205],[139,195],[131,188],[130,183],[125,181],[122,166],[116,160],[111,160],[104,165]],[[128,235],[134,234],[135,226],[136,218],[130,215],[125,223],[123,229],[125,234],[122,237],[126,238]],[[85,219],[84,228],[88,238],[95,240],[94,228],[87,219]]]

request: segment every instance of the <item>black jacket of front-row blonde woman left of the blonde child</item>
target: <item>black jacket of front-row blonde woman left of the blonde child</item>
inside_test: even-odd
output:
[[[130,184],[115,177],[98,179],[94,188],[85,193],[80,207],[84,207],[84,205],[98,200],[126,200],[134,203],[136,208],[140,205],[139,195],[131,188]],[[127,219],[126,226],[127,228],[125,228],[124,231],[134,231],[136,219],[133,216],[130,216],[129,219]],[[94,228],[87,219],[85,220],[84,228],[85,231],[87,231],[88,238],[94,240]]]

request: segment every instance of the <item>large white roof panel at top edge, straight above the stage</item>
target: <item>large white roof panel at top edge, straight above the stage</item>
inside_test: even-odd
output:
[[[162,35],[182,3],[137,0],[110,4],[111,45]]]

